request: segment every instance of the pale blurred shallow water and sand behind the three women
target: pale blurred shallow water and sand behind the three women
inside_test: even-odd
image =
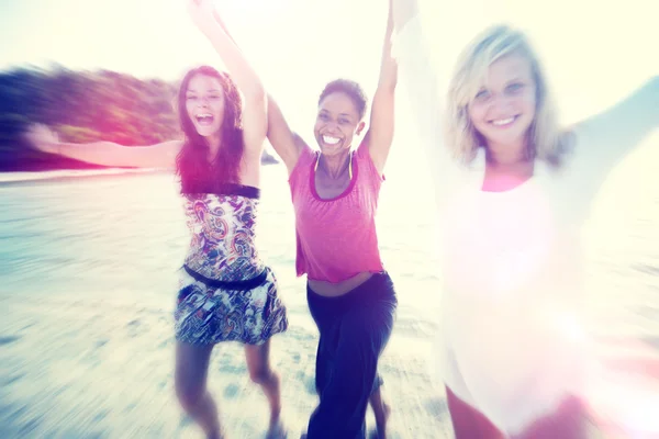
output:
[[[289,437],[297,439],[317,401],[317,331],[304,281],[293,272],[293,216],[284,172],[282,167],[264,171],[259,243],[289,311],[290,329],[273,339],[271,352],[281,374]],[[390,181],[400,179],[395,170],[391,175]],[[57,177],[0,184],[0,437],[201,438],[174,394],[171,312],[176,270],[188,244],[174,178]],[[450,438],[445,397],[431,378],[440,306],[427,239],[432,214],[418,213],[424,219],[414,225],[406,215],[396,215],[415,202],[403,189],[386,189],[378,224],[382,257],[400,301],[380,369],[393,409],[390,437]],[[659,340],[659,307],[651,301],[659,292],[659,254],[647,243],[659,228],[659,196],[654,201],[645,216],[619,219],[647,223],[626,240],[621,237],[618,247],[605,249],[606,258],[619,259],[594,263],[597,282],[636,292],[625,296],[624,306],[611,299],[613,286],[599,292],[602,313],[615,308],[635,316],[615,320],[624,325],[610,319],[601,328],[605,336]],[[636,243],[635,252],[621,256],[619,248],[629,250],[630,243]],[[623,258],[627,264],[621,264]],[[617,271],[610,270],[613,266]],[[228,437],[263,437],[266,399],[249,382],[238,345],[215,349],[209,380]],[[368,425],[375,427],[370,413]]]

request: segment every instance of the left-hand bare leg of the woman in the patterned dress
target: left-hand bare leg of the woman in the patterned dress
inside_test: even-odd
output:
[[[177,341],[176,394],[183,409],[199,424],[208,439],[222,439],[217,406],[206,389],[212,350],[213,346]]]

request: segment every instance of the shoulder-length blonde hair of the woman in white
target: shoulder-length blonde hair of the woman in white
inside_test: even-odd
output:
[[[490,65],[511,54],[528,59],[536,83],[536,114],[528,128],[526,157],[558,167],[567,136],[558,126],[556,105],[550,99],[539,58],[526,35],[507,25],[487,29],[459,56],[448,88],[447,144],[462,164],[472,161],[478,148],[485,146],[485,139],[471,123],[468,106],[485,82]]]

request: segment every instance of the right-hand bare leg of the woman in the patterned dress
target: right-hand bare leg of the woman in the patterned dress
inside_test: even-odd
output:
[[[270,430],[278,428],[281,414],[279,375],[270,367],[270,340],[259,346],[245,346],[245,359],[249,378],[260,384],[270,404]]]

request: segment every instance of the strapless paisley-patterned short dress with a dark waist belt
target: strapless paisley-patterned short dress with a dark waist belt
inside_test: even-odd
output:
[[[176,338],[192,345],[261,345],[288,328],[277,280],[255,246],[259,190],[186,194],[192,235],[180,270]]]

